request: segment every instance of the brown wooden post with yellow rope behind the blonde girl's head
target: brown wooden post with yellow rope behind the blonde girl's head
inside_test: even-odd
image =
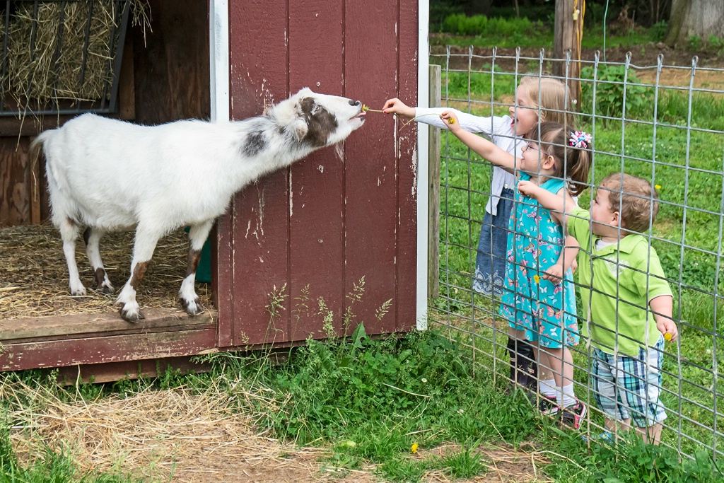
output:
[[[569,104],[568,109],[576,110],[581,98],[581,38],[583,37],[584,0],[555,0],[555,30],[553,38],[553,75],[565,77],[565,58],[571,51],[571,64],[568,67],[568,88],[571,99],[577,104]]]

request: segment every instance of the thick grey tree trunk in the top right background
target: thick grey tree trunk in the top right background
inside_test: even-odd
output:
[[[692,36],[698,36],[706,42],[710,35],[724,38],[723,1],[671,1],[671,17],[665,40],[668,46],[682,46]]]

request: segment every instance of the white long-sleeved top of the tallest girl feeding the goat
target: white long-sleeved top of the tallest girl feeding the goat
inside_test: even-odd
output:
[[[516,137],[513,133],[513,128],[511,127],[513,119],[511,119],[510,116],[481,117],[447,107],[434,107],[429,109],[418,107],[415,109],[415,117],[424,116],[416,120],[434,127],[439,127],[440,129],[447,129],[447,125],[439,117],[439,114],[445,111],[455,112],[455,115],[458,116],[458,120],[460,121],[460,127],[463,127],[464,130],[470,131],[471,133],[482,133],[486,137],[489,137],[495,146],[508,151],[510,154],[515,154],[518,158],[523,157],[521,148],[525,146],[525,141],[523,141],[523,138]],[[426,116],[424,114],[437,114],[437,116]],[[493,177],[490,181],[491,196],[485,206],[485,211],[489,214],[497,214],[497,204],[503,188],[514,189],[515,176],[501,167],[494,166]]]

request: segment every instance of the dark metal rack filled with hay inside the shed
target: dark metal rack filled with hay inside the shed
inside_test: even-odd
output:
[[[0,117],[115,112],[131,0],[0,2]]]

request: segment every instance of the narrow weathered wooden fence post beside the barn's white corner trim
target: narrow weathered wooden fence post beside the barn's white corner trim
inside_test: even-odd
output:
[[[442,94],[439,65],[430,65],[429,106],[439,107]],[[427,296],[437,298],[440,295],[440,129],[429,126],[428,141],[428,180],[429,196],[427,212]]]

